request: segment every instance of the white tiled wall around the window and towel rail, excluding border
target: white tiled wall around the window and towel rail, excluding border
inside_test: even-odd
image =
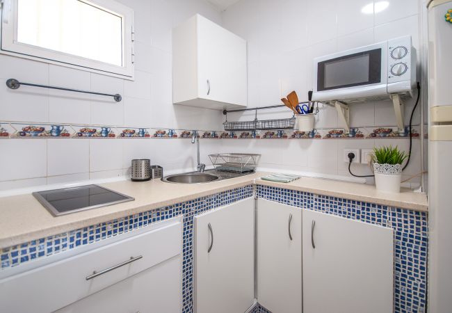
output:
[[[219,111],[172,105],[171,30],[195,13],[221,24],[219,10],[204,0],[120,1],[135,10],[135,81],[0,54],[0,121],[218,129]],[[123,100],[116,104],[103,97],[31,87],[9,90],[9,78],[120,93]],[[204,163],[220,145],[203,141]],[[3,139],[0,190],[117,177],[134,158],[150,158],[165,170],[187,170],[195,167],[195,145],[188,139]]]

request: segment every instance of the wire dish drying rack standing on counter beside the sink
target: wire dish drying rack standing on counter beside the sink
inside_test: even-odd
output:
[[[219,153],[209,154],[216,170],[225,172],[252,172],[255,170],[261,154],[251,153]]]

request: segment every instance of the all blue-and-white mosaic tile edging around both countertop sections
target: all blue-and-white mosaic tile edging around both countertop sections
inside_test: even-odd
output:
[[[83,246],[129,232],[150,223],[184,214],[183,312],[193,312],[193,217],[204,211],[252,196],[253,186],[236,188],[134,216],[49,236],[0,251],[1,268]],[[321,211],[366,223],[392,227],[395,236],[395,312],[423,312],[426,308],[428,221],[426,212],[314,195],[270,186],[257,186],[259,198]],[[15,260],[15,261],[14,261]],[[414,270],[414,271],[413,271]],[[257,310],[257,311],[255,311]],[[268,313],[260,305],[254,313]]]

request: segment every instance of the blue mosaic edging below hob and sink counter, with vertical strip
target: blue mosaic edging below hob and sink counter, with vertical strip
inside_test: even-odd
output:
[[[194,216],[204,211],[223,207],[233,202],[250,198],[253,195],[253,185],[235,188],[214,195],[182,202],[134,214],[124,218],[111,220],[79,230],[65,232],[46,238],[29,241],[21,245],[0,250],[1,270],[18,266],[32,259],[54,255],[55,253],[85,246],[95,241],[111,236],[130,232],[161,220],[184,215],[183,233],[183,264],[182,264],[182,298],[184,313],[193,312],[193,220]]]

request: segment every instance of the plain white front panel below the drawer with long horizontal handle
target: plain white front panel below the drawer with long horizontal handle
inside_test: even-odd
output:
[[[180,313],[181,307],[179,255],[55,312]]]

